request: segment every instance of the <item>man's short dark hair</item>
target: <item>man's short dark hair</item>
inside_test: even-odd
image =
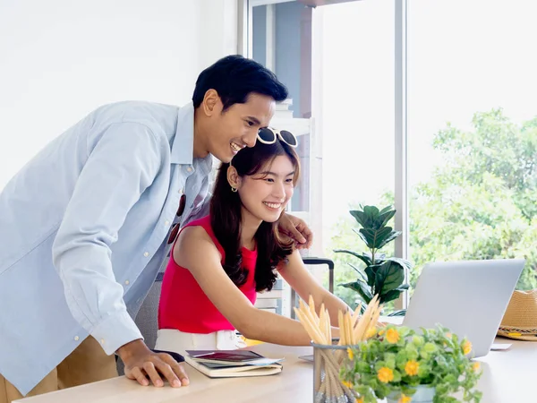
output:
[[[267,95],[276,101],[287,98],[286,86],[275,73],[254,60],[239,55],[221,58],[203,70],[192,95],[194,108],[201,105],[208,90],[216,90],[224,105],[223,111],[234,104],[243,104],[252,93]]]

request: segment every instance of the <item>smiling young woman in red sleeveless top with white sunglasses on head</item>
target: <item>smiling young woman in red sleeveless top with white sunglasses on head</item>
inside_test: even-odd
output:
[[[309,345],[300,322],[253,305],[277,273],[304,300],[313,296],[318,312],[324,303],[333,321],[338,310],[348,309],[313,279],[294,243],[277,232],[300,172],[295,146],[292,133],[261,129],[254,147],[221,165],[209,216],[184,227],[175,242],[162,284],[156,348],[182,354],[243,347],[235,330],[247,339]]]

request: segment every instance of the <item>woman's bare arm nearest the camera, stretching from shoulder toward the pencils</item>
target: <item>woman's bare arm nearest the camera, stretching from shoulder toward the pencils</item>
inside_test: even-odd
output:
[[[217,247],[202,227],[184,228],[173,256],[177,264],[190,270],[217,310],[244,337],[287,346],[310,344],[300,322],[261,311],[251,304],[227,276]]]

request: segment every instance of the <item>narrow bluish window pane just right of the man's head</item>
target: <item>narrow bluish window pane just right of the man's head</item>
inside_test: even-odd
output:
[[[252,2],[251,19],[251,57],[276,73],[289,90],[289,99],[277,106],[273,124],[301,135],[296,151],[303,176],[294,191],[290,210],[309,211],[311,8],[297,2]]]

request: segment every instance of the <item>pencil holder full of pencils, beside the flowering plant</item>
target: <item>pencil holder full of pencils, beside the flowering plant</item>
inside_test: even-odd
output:
[[[358,394],[339,379],[339,370],[348,346],[311,343],[313,346],[313,401],[314,403],[354,403]]]

